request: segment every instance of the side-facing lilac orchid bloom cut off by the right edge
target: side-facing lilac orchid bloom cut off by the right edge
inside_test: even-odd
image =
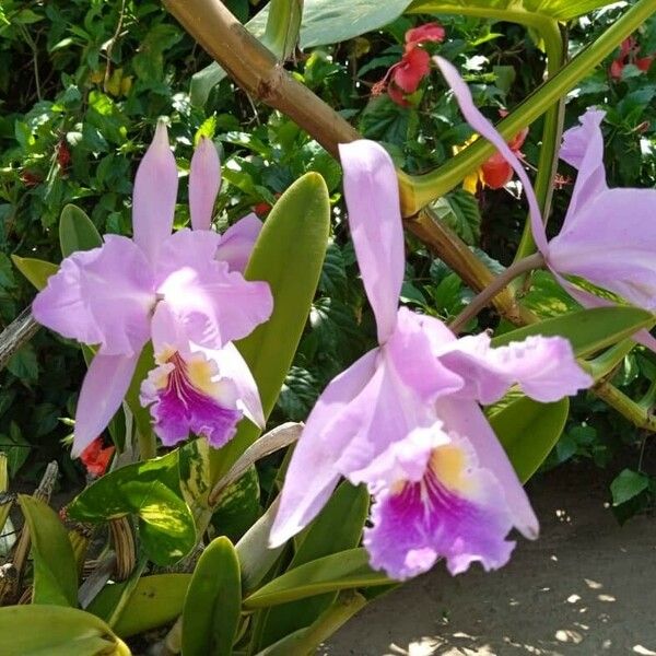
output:
[[[469,125],[488,139],[522,180],[536,246],[559,283],[587,307],[610,305],[567,281],[578,276],[640,307],[656,311],[656,190],[610,189],[604,168],[604,113],[588,109],[579,126],[563,136],[560,156],[578,169],[562,230],[550,242],[530,179],[492,124],[478,110],[471,93],[448,61],[435,57]],[[656,350],[646,330],[636,339]]]

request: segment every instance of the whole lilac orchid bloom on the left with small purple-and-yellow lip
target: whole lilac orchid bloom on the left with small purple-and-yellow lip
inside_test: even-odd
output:
[[[267,320],[272,297],[265,282],[248,282],[241,272],[245,251],[254,239],[253,221],[257,219],[251,216],[235,224],[223,237],[209,230],[219,184],[214,147],[201,141],[189,180],[191,223],[196,230],[171,234],[177,169],[166,128],[159,124],[134,179],[133,239],[106,235],[102,247],[67,257],[36,296],[32,309],[39,324],[79,342],[97,345],[78,400],[74,455],[102,432],[120,407],[151,336],[162,336],[155,339],[155,358],[160,367],[168,365],[163,389],[174,389],[178,395],[178,414],[186,418],[188,427],[208,430],[215,444],[234,432],[234,426],[225,425],[224,417],[218,415],[211,423],[207,418],[199,419],[207,414],[206,409],[195,410],[197,401],[218,407],[225,399],[219,391],[225,387],[221,382],[221,362],[212,364],[208,359]],[[218,260],[218,254],[223,254],[223,259]],[[172,326],[175,340],[169,339]],[[236,388],[249,389],[238,402],[231,397],[227,410],[233,412],[247,405],[248,414],[259,421],[261,409],[259,400],[254,401],[257,390],[253,377],[243,361],[234,366],[234,353],[230,345],[227,349],[227,370],[239,377],[231,394],[234,397]],[[194,366],[188,366],[186,359],[192,353],[198,354],[192,355]],[[203,363],[198,364],[202,358]],[[171,443],[174,436],[179,438],[181,420],[176,420],[174,431],[171,422],[163,419],[171,417],[172,397],[155,398],[164,372],[159,368],[157,374],[149,376],[152,387],[144,396],[159,401],[155,430]],[[192,397],[191,391],[198,396]],[[224,426],[222,437],[218,422]]]

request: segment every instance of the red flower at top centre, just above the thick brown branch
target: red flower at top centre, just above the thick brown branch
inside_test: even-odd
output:
[[[431,70],[431,57],[421,47],[421,44],[426,42],[442,42],[446,32],[442,25],[437,23],[426,23],[406,32],[406,45],[403,47],[403,56],[401,60],[389,68],[385,78],[374,84],[373,93],[380,93],[391,77],[390,83],[387,85],[389,97],[397,104],[403,107],[409,103],[405,95],[414,93],[421,81],[429,74]]]

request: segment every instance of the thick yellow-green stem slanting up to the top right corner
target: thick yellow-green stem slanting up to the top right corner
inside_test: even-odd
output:
[[[514,112],[501,120],[497,125],[501,134],[505,139],[512,139],[519,130],[558,103],[655,11],[655,0],[639,0],[595,43],[581,51],[570,63],[542,83]],[[415,214],[432,200],[454,189],[492,154],[494,154],[494,147],[484,139],[478,139],[440,168],[420,176],[403,176],[400,180],[403,215]]]

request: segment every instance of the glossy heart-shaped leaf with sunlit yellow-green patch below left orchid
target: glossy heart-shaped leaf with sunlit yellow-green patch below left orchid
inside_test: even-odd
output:
[[[143,550],[159,565],[169,565],[196,544],[196,526],[178,483],[178,454],[134,462],[106,473],[68,506],[80,522],[106,522],[128,514],[139,518]]]

